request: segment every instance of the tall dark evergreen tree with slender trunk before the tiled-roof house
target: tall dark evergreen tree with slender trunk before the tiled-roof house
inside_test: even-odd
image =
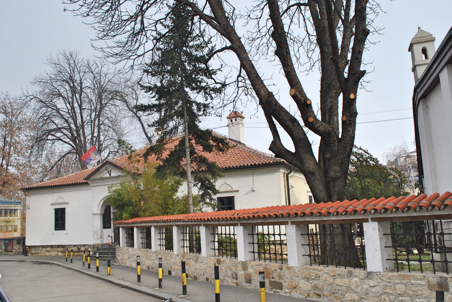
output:
[[[202,33],[194,35],[193,26],[190,9],[172,8],[169,23],[156,37],[160,43],[152,61],[143,70],[151,81],[142,84],[142,88],[151,94],[153,101],[137,106],[138,111],[158,116],[151,126],[163,130],[144,156],[156,155],[161,162],[158,172],[177,173],[187,180],[189,213],[193,213],[193,185],[198,187],[204,204],[218,209],[213,195],[217,193],[215,181],[221,176],[221,169],[202,152],[225,152],[229,148],[226,139],[199,127],[202,116],[212,111],[213,98],[225,85],[212,81],[220,71],[207,63],[214,53],[212,41]],[[168,150],[166,146],[172,136],[177,141]]]

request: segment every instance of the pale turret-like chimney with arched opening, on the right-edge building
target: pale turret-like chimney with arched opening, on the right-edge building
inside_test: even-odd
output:
[[[411,40],[408,51],[411,52],[413,63],[411,71],[414,73],[414,82],[417,82],[435,54],[435,37],[418,27],[418,32]]]

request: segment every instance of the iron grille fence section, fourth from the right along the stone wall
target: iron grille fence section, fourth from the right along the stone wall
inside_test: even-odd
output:
[[[213,227],[214,256],[237,258],[237,234],[235,227]]]

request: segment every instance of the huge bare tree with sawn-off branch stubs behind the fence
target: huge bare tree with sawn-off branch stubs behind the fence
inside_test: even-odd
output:
[[[234,67],[236,81],[230,84],[236,83],[234,89],[245,93],[231,93],[231,98],[249,96],[259,102],[273,135],[269,150],[303,172],[315,202],[344,200],[355,139],[358,88],[366,74],[362,69],[363,51],[369,44],[369,34],[378,32],[374,25],[381,11],[378,3],[255,0],[245,8],[225,0],[65,3],[75,4],[75,14],[86,17],[86,23],[97,30],[99,41],[94,45],[105,57],[133,65],[152,57],[161,38],[155,33],[163,28],[171,9],[187,6],[198,32],[210,33],[217,41],[218,49],[211,59]],[[226,51],[236,56],[236,64],[225,59],[230,58]],[[259,60],[272,60],[273,55],[273,64],[282,70],[290,87],[290,93],[281,98],[292,98],[295,112],[283,106],[259,70]],[[308,70],[315,66],[320,69],[320,116],[303,86],[300,69],[306,64]],[[212,78],[212,83],[215,81]],[[277,124],[291,138],[293,149],[283,144]],[[308,130],[320,137],[317,157],[306,135]]]

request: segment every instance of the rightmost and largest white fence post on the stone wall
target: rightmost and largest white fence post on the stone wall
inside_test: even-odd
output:
[[[364,240],[366,245],[367,271],[386,272],[394,269],[392,259],[391,236],[383,234],[390,233],[389,222],[367,222],[363,223]]]

